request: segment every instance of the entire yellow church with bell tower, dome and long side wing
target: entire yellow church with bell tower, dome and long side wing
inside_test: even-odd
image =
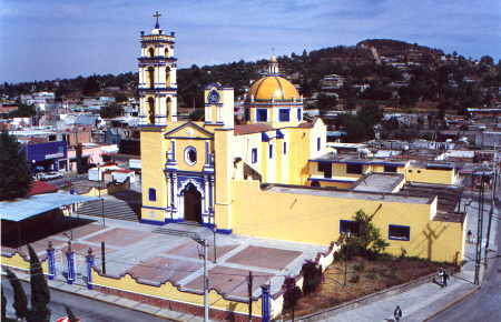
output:
[[[350,173],[350,162],[328,158],[326,125],[304,121],[303,98],[275,57],[248,91],[244,123],[235,123],[233,89],[219,83],[205,88],[203,122],[178,121],[175,34],[157,23],[140,42],[141,222],[327,245],[362,209],[375,213],[390,253],[462,260],[464,215],[412,190],[409,162]],[[451,175],[429,183],[455,191]]]

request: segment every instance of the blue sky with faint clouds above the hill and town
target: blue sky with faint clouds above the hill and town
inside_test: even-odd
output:
[[[499,0],[0,0],[0,81],[136,71],[156,10],[179,68],[370,38],[501,59]]]

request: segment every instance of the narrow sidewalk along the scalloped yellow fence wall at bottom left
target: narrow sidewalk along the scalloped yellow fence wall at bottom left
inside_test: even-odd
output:
[[[2,275],[4,275],[4,271],[2,270]],[[16,275],[26,282],[30,282],[30,275],[27,273],[22,273],[19,271],[16,271]],[[101,292],[97,292],[94,290],[87,289],[86,285],[79,285],[79,284],[67,284],[63,281],[60,280],[47,280],[49,288],[55,289],[61,292],[66,293],[72,293],[78,294],[80,296],[89,298],[95,301],[101,301],[109,304],[114,304],[117,306],[121,306],[125,309],[139,311],[143,313],[151,314],[158,318],[168,319],[170,321],[204,321],[200,316],[195,316],[188,313],[177,312],[177,311],[170,311],[167,309],[159,309],[157,306],[144,304],[137,301],[132,301],[129,299],[119,298],[116,295],[105,294]]]

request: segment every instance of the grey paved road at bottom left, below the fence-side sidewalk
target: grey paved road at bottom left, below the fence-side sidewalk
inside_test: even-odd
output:
[[[29,301],[29,285],[26,282],[22,283]],[[7,296],[7,314],[8,316],[14,316],[16,311],[12,308],[12,288],[4,276],[2,276],[2,286]],[[53,289],[50,290],[50,310],[52,311],[51,321],[56,321],[56,319],[60,316],[66,316],[65,304],[70,306],[75,315],[82,319],[84,322],[168,321],[100,301],[59,292]]]

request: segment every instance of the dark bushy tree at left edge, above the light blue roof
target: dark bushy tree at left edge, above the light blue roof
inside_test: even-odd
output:
[[[21,145],[13,135],[2,131],[0,134],[0,201],[26,197],[32,180]]]

